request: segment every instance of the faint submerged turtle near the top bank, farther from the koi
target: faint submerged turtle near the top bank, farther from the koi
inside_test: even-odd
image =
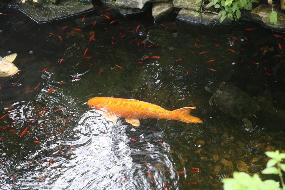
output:
[[[174,35],[170,32],[161,29],[151,29],[148,31],[146,39],[154,45],[161,47],[167,47],[170,50],[174,50],[173,39]]]

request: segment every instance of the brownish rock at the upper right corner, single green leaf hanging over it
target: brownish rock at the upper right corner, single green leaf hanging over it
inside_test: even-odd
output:
[[[251,18],[254,22],[260,23],[266,28],[270,28],[274,31],[285,32],[285,15],[277,12],[277,23],[271,23],[268,14],[272,11],[272,8],[267,5],[259,5],[251,11]]]

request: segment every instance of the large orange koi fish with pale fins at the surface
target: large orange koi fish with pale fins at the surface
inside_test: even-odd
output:
[[[186,123],[203,123],[200,118],[189,115],[191,109],[196,107],[183,107],[169,111],[164,108],[134,99],[95,97],[88,100],[88,105],[104,113],[103,117],[116,122],[118,117],[123,117],[133,126],[140,126],[139,118],[159,118],[183,121]]]

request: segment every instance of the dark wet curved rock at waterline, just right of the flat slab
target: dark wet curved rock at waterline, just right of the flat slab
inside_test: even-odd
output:
[[[112,9],[115,9],[122,15],[132,15],[132,14],[137,14],[141,12],[146,12],[147,9],[150,7],[150,5],[144,6],[142,9],[133,9],[133,8],[123,8],[118,6],[118,4],[115,4],[116,1],[114,0],[101,0],[105,5],[108,7],[111,7]]]

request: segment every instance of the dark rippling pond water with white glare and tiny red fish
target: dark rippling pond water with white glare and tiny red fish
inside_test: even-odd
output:
[[[284,34],[243,22],[154,25],[105,9],[44,25],[5,5],[2,13],[0,56],[17,53],[20,71],[0,79],[0,117],[9,113],[0,189],[222,189],[233,171],[260,174],[265,151],[285,151],[285,40],[273,35]],[[164,47],[145,41],[150,30]],[[259,105],[251,128],[209,104],[205,86],[222,82]],[[112,123],[87,105],[95,96],[196,106],[204,124]]]

